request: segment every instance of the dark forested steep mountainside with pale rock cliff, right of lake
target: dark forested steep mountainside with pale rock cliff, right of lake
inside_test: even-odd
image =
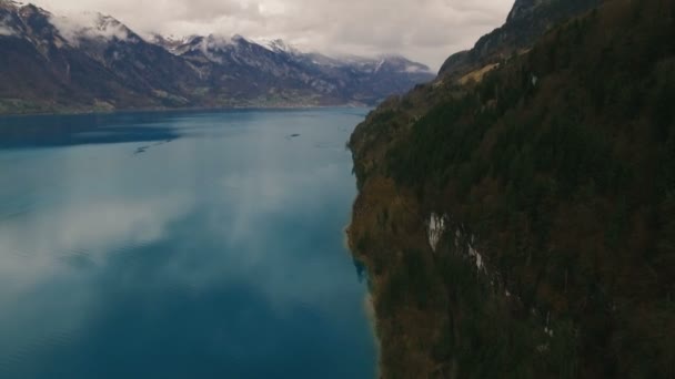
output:
[[[570,3],[350,140],[384,378],[675,377],[675,2]]]

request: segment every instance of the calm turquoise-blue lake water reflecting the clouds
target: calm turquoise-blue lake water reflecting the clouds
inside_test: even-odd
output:
[[[365,112],[0,119],[0,378],[373,378]]]

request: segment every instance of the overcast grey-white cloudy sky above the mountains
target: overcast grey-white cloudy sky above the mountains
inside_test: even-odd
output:
[[[514,0],[33,0],[57,14],[99,11],[141,34],[281,38],[324,53],[401,53],[439,69],[500,27]]]

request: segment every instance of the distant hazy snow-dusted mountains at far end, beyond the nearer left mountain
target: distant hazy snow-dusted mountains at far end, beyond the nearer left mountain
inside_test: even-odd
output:
[[[329,58],[302,53],[281,40],[256,43],[241,35],[160,41],[214,83],[213,95],[222,99],[374,104],[433,79],[427,66],[402,57]]]

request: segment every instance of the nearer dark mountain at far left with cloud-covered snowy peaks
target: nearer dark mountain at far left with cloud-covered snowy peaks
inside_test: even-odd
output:
[[[111,18],[97,16],[94,30],[69,28],[64,35],[62,19],[2,2],[0,20],[11,31],[0,35],[0,112],[173,105],[169,98],[185,95],[198,79],[187,63]]]

